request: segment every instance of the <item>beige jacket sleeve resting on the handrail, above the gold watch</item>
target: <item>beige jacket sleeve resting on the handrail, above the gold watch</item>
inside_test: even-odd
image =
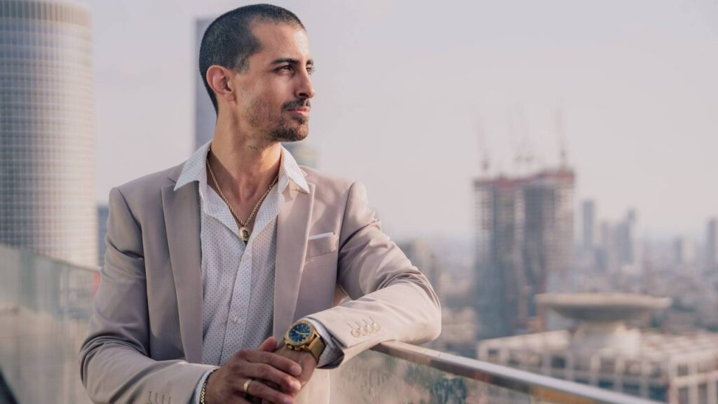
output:
[[[352,300],[310,317],[340,343],[343,360],[383,341],[436,339],[441,307],[429,280],[381,230],[362,183],[351,185],[346,203],[337,283]]]

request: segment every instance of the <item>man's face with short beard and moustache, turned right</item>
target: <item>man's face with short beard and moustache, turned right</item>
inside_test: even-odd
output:
[[[309,133],[309,75],[314,62],[301,27],[272,22],[252,29],[261,50],[248,58],[248,70],[235,76],[240,129],[269,142],[295,142]]]

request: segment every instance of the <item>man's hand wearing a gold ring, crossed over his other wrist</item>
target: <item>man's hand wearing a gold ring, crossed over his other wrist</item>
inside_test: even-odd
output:
[[[293,397],[302,389],[297,376],[304,375],[304,372],[297,362],[272,352],[276,345],[276,339],[270,336],[256,351],[242,349],[234,354],[208,377],[205,402],[250,403],[242,387],[251,378],[253,381],[249,384],[248,393],[253,398],[276,404],[294,403]]]

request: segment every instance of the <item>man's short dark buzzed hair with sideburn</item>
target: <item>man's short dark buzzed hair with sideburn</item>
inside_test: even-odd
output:
[[[200,45],[200,75],[217,114],[217,97],[207,83],[207,70],[212,65],[219,65],[246,72],[249,57],[261,50],[261,43],[251,31],[255,22],[294,24],[304,29],[293,12],[272,4],[243,6],[217,17],[205,31]]]

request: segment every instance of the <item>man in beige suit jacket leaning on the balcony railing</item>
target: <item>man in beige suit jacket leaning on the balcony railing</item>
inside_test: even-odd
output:
[[[95,403],[327,403],[326,369],[438,336],[439,301],[363,185],[281,147],[307,137],[313,69],[286,9],[241,7],[208,27],[212,142],[110,193],[80,351]]]

